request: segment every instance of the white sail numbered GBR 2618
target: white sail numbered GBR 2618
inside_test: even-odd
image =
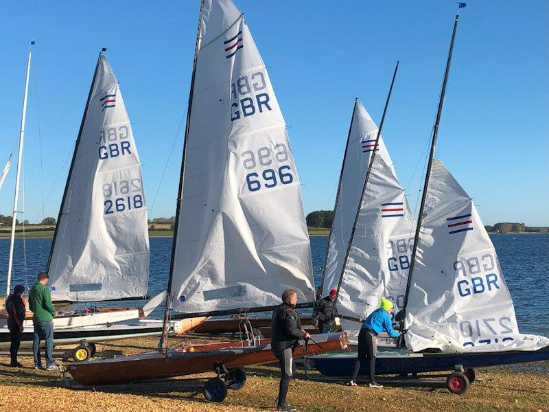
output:
[[[52,299],[144,296],[147,209],[139,155],[115,75],[100,56],[49,262]]]

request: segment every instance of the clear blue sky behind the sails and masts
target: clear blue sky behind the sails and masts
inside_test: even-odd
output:
[[[62,165],[72,153],[102,46],[108,47],[106,56],[134,123],[152,206],[187,102],[198,3],[3,3],[1,168],[16,148],[27,42],[36,41],[25,146],[25,218],[57,217],[70,159]],[[245,12],[290,126],[305,212],[333,207],[353,100],[360,98],[379,122],[400,60],[383,134],[413,208],[456,1],[236,3]],[[439,157],[475,198],[484,224],[549,225],[549,3],[476,0],[468,1],[460,14]],[[44,213],[39,135],[44,196],[51,190]],[[182,137],[183,129],[152,217],[175,213]],[[13,167],[0,192],[0,214],[12,213],[14,176]]]

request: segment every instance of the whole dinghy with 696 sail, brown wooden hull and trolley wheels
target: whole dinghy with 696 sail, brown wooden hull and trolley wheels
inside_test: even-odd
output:
[[[310,307],[310,253],[288,133],[264,62],[233,2],[204,0],[165,320],[272,310],[286,288]],[[173,350],[165,334],[165,350],[67,369],[86,385],[215,370],[218,378],[207,383],[205,396],[222,400],[227,385],[244,384],[242,370],[231,368],[276,361],[269,341],[251,335],[244,342]],[[322,334],[314,341],[320,346],[305,345],[294,356],[346,344],[342,334]]]

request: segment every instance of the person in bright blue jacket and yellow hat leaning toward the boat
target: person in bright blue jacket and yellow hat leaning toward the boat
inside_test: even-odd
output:
[[[393,330],[393,325],[390,320],[390,312],[393,309],[393,302],[382,297],[381,308],[374,310],[369,317],[362,323],[362,328],[358,334],[358,359],[355,362],[355,371],[349,385],[356,386],[356,378],[360,365],[366,363],[366,355],[370,361],[370,387],[382,388],[375,382],[375,354],[377,352],[377,341],[375,336],[385,331],[392,338],[397,338],[401,334]]]

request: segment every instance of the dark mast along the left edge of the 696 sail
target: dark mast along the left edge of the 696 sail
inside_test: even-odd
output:
[[[191,110],[193,106],[194,79],[196,77],[196,60],[198,49],[200,49],[200,32],[202,31],[202,14],[204,13],[204,0],[200,0],[200,12],[198,13],[198,29],[196,30],[196,44],[194,46],[193,72],[191,75],[191,87],[189,89],[189,103],[187,104],[187,122],[185,123],[185,138],[183,139],[183,160],[181,161],[181,172],[179,176],[179,190],[177,193],[176,221],[174,222],[174,238],[172,240],[172,259],[170,260],[170,275],[167,279],[166,304],[164,309],[164,326],[159,346],[167,350],[167,323],[170,320],[170,302],[172,301],[172,277],[174,274],[174,260],[176,257],[177,229],[179,225],[179,214],[181,202],[183,201],[183,181],[185,176],[185,160],[187,159],[187,138],[189,137],[189,126],[191,124]]]

